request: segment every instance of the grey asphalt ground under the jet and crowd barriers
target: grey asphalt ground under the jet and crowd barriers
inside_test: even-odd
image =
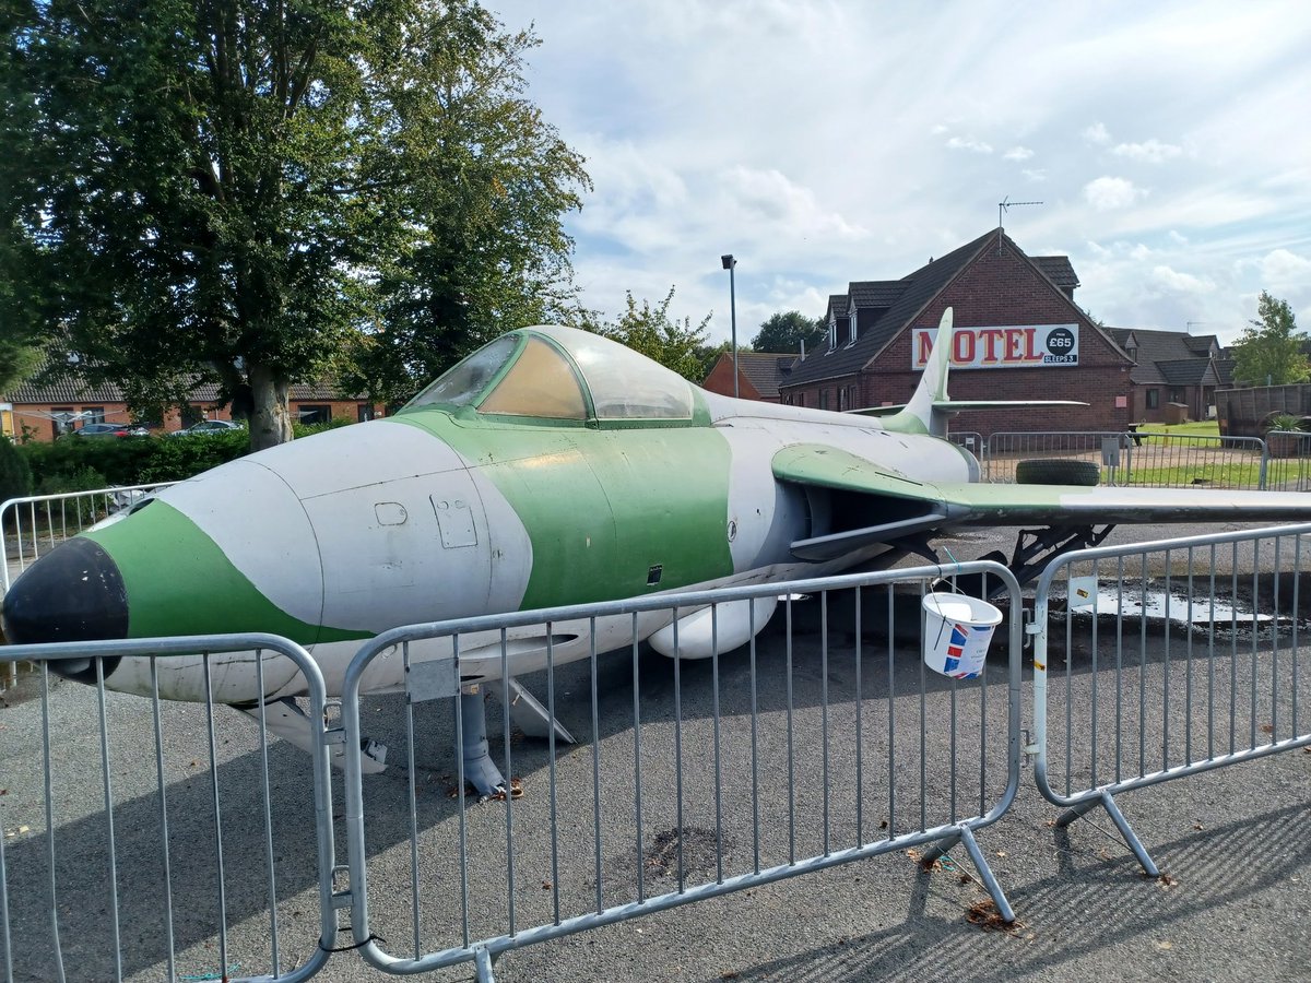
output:
[[[1131,535],[1155,539],[1179,532],[1146,528]],[[964,560],[994,548],[1008,549],[1009,537],[973,532],[949,541],[948,547]],[[1244,564],[1242,556],[1238,564]],[[717,758],[713,667],[708,663],[680,665],[675,674],[674,663],[644,651],[637,662],[642,725],[636,729],[633,665],[627,655],[603,659],[598,668],[595,733],[586,665],[560,670],[555,687],[557,714],[579,742],[557,748],[555,794],[547,747],[519,738],[510,743],[511,772],[524,788],[523,798],[511,806],[518,928],[549,923],[557,904],[562,917],[594,911],[598,882],[603,904],[619,904],[636,896],[638,883],[648,896],[676,891],[679,869],[686,886],[713,882],[721,873],[717,858],[722,861],[722,876],[733,877],[754,868],[756,852],[760,866],[784,864],[789,856],[822,853],[826,820],[829,848],[838,851],[857,841],[910,834],[922,820],[932,826],[953,815],[974,815],[1004,794],[1006,670],[998,642],[986,678],[987,704],[981,706],[977,684],[952,687],[923,675],[915,646],[907,642],[907,629],[901,628],[909,617],[903,607],[897,608],[898,628],[889,645],[873,628],[881,606],[881,598],[867,598],[859,659],[857,638],[850,630],[851,606],[836,600],[829,611],[827,645],[814,603],[794,606],[791,670],[783,617],[776,616],[762,634],[755,671],[754,771],[753,674],[745,655],[725,657],[720,665]],[[914,620],[909,624],[914,634],[918,625]],[[1135,632],[1137,625],[1135,621]],[[1210,665],[1197,662],[1200,668],[1214,671],[1205,687],[1197,684],[1196,705],[1185,708],[1180,703],[1180,680],[1185,678],[1186,662],[1194,658],[1184,641],[1188,633],[1152,626],[1143,649],[1147,658],[1117,667],[1112,633],[1103,630],[1093,642],[1091,621],[1076,623],[1076,632],[1079,637],[1071,642],[1068,658],[1063,649],[1053,658],[1054,670],[1061,670],[1054,672],[1050,693],[1053,720],[1059,721],[1051,744],[1054,780],[1063,779],[1066,769],[1075,780],[1087,780],[1093,747],[1101,752],[1103,781],[1109,777],[1105,769],[1114,754],[1137,764],[1139,726],[1146,729],[1148,723],[1163,727],[1165,721],[1171,722],[1169,747],[1172,760],[1177,760],[1185,734],[1205,741],[1200,721],[1207,703],[1219,708],[1222,718],[1211,735],[1224,743],[1230,733],[1226,680],[1231,668],[1232,679],[1238,680],[1232,730],[1239,738],[1249,731],[1256,733],[1257,742],[1291,735],[1294,692],[1311,692],[1306,685],[1311,653],[1297,650],[1301,689],[1295,689],[1287,675],[1293,671],[1294,649],[1285,640],[1283,684],[1272,699],[1262,695],[1255,709],[1248,709],[1249,691],[1243,687],[1251,668],[1251,661],[1244,661],[1247,649],[1234,654],[1222,645]],[[1138,659],[1138,634],[1130,641],[1126,651]],[[1257,647],[1264,651],[1261,640]],[[1021,723],[1029,726],[1028,654],[1024,665]],[[1068,672],[1063,671],[1066,666]],[[1162,688],[1167,675],[1173,680],[1171,697]],[[67,978],[101,980],[118,975],[111,959],[115,946],[110,855],[104,845],[110,820],[117,843],[113,862],[119,886],[121,975],[134,980],[166,976],[164,915],[170,902],[177,976],[214,978],[224,962],[214,928],[218,840],[211,790],[215,782],[222,806],[229,973],[266,971],[271,911],[278,917],[282,966],[304,962],[316,944],[319,925],[308,759],[282,742],[269,746],[270,839],[278,876],[278,902],[270,906],[261,796],[264,755],[254,725],[219,708],[214,717],[216,765],[211,768],[205,708],[161,705],[169,895],[164,891],[149,701],[106,695],[111,802],[106,810],[96,692],[51,682],[55,834],[50,838],[43,815],[38,682],[37,676],[25,675],[17,691],[0,695],[0,826],[5,836],[12,932],[8,944],[14,979],[55,978],[46,887],[51,843]],[[544,696],[541,680],[526,682]],[[1266,693],[1266,676],[1260,682],[1261,692]],[[1108,725],[1117,693],[1129,708],[1118,748]],[[1133,714],[1139,693],[1146,695],[1146,720]],[[1096,742],[1089,735],[1089,708],[1095,704],[1101,726]],[[493,700],[488,705],[493,721],[498,720],[498,704]],[[1074,735],[1068,743],[1067,710]],[[1298,712],[1303,720],[1301,731],[1306,733],[1308,710],[1299,706]],[[473,938],[505,931],[509,865],[503,803],[471,801],[463,810],[469,856],[463,874],[469,902],[467,908],[461,904],[460,810],[452,794],[450,704],[437,701],[416,708],[413,806],[402,701],[371,697],[363,713],[370,735],[388,743],[392,755],[384,775],[364,779],[370,924],[375,935],[387,940],[380,945],[397,955],[413,954],[416,924],[420,952],[459,944],[464,911]],[[1160,754],[1158,734],[1148,731],[1143,742],[1152,754]],[[503,754],[494,725],[492,752],[498,759]],[[638,758],[640,852],[633,788]],[[721,773],[718,800],[716,760]],[[682,763],[680,771],[675,761]],[[594,767],[600,773],[599,796],[594,794]],[[1100,810],[1068,828],[1055,827],[1061,810],[1038,794],[1032,767],[1023,768],[1009,811],[978,832],[985,858],[1016,911],[1012,925],[988,917],[988,895],[962,848],[926,869],[919,862],[922,849],[893,841],[885,853],[868,860],[511,952],[497,963],[497,978],[1299,980],[1311,976],[1307,967],[1311,754],[1293,750],[1126,793],[1117,801],[1164,877],[1152,879],[1142,874]],[[759,824],[751,820],[754,802]],[[343,862],[345,849],[342,810],[341,779],[334,776],[338,862]],[[555,857],[552,828],[557,831]],[[679,828],[684,831],[682,838],[676,835]],[[418,872],[417,889],[412,870]],[[5,940],[0,938],[3,944]],[[342,933],[337,944],[349,945],[349,933]],[[0,979],[4,966],[0,958]],[[471,975],[471,967],[464,966],[427,978]],[[317,978],[382,976],[347,952],[334,955]]]

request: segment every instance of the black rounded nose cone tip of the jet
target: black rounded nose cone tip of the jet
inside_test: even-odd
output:
[[[13,645],[127,637],[127,591],[97,543],[71,539],[29,566],[4,596]],[[51,663],[58,668],[58,663]]]

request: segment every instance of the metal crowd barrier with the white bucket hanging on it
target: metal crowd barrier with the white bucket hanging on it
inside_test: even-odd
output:
[[[932,672],[906,658],[912,644],[898,637],[911,609],[923,630],[922,595],[944,577],[996,578],[1009,598],[1012,616],[977,680]],[[777,598],[764,633],[783,632],[781,645],[753,640],[718,654],[728,604]],[[709,658],[666,659],[633,641],[697,609],[712,619]],[[893,851],[920,848],[932,862],[956,844],[999,915],[1012,919],[975,832],[1003,815],[1019,784],[1017,612],[1011,573],[969,562],[378,637],[351,663],[342,695],[349,903],[361,954],[385,973],[473,963],[480,980],[492,980],[493,959],[511,949]],[[910,637],[918,644],[919,632]],[[598,657],[615,645],[623,647]],[[674,646],[682,650],[676,636]],[[569,662],[574,655],[581,661]],[[379,737],[366,725],[385,727],[393,716],[362,708],[362,687],[397,671],[388,663],[399,663],[406,688],[404,730],[392,735],[404,788],[362,776],[361,744]],[[518,716],[527,697],[517,685],[486,713],[492,751],[479,763],[481,688],[497,687],[468,680],[511,674],[543,697],[547,739],[523,743],[511,727],[511,713],[528,716]],[[545,720],[574,729],[581,746],[568,751],[568,731]],[[465,809],[471,771],[493,763],[509,794]],[[371,872],[384,858],[385,869],[408,870],[406,883],[393,870],[379,890]]]

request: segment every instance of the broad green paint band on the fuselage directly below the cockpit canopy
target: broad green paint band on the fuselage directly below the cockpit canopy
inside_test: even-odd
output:
[[[733,573],[730,452],[711,426],[606,429],[417,410],[389,418],[455,448],[532,543],[523,608],[641,596]],[[669,461],[679,461],[670,468]]]

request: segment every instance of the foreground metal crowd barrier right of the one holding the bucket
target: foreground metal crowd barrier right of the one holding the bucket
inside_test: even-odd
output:
[[[1029,750],[1040,790],[1066,809],[1059,826],[1104,807],[1156,876],[1116,796],[1311,746],[1307,536],[1311,524],[1103,547],[1044,570]]]

